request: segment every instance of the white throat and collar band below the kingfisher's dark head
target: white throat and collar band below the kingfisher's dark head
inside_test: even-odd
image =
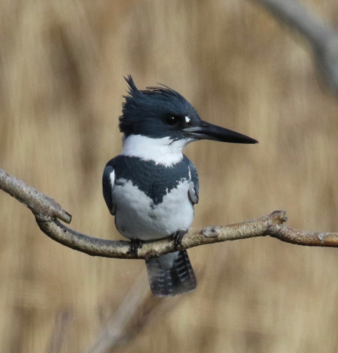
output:
[[[182,160],[183,148],[193,139],[174,140],[170,137],[151,138],[142,135],[129,135],[123,138],[121,155],[139,157],[144,161],[154,161],[171,167]]]

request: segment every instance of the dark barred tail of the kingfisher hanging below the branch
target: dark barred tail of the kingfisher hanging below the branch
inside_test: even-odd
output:
[[[159,297],[189,292],[196,277],[188,253],[180,250],[146,260],[150,289]]]

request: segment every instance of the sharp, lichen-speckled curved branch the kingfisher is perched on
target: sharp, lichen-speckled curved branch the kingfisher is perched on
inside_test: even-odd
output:
[[[144,243],[138,253],[130,252],[129,241],[104,240],[89,237],[64,226],[57,218],[70,223],[71,216],[54,200],[0,169],[0,189],[22,202],[35,215],[41,231],[60,244],[82,251],[92,256],[146,259],[175,251],[171,239]],[[308,246],[338,246],[338,233],[304,232],[286,227],[284,210],[274,211],[258,219],[230,226],[207,227],[186,235],[182,249],[194,246],[219,243],[221,241],[271,237],[287,243]]]

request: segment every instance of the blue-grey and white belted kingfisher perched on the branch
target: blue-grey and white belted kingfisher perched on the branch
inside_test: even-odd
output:
[[[119,118],[123,150],[106,164],[103,196],[117,230],[131,240],[131,251],[137,252],[142,241],[167,237],[177,248],[198,203],[197,171],[183,148],[201,139],[257,141],[201,120],[195,108],[167,86],[138,90],[130,75],[125,80],[129,91]],[[186,250],[147,259],[146,265],[155,295],[196,288]]]

